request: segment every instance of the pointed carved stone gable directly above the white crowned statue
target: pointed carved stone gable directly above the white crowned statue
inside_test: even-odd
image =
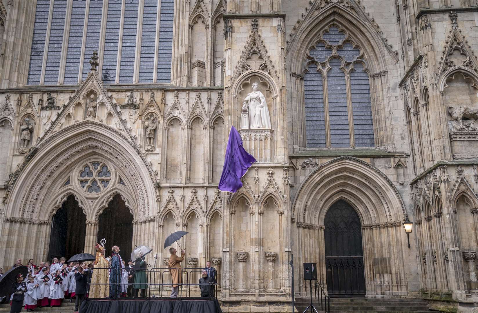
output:
[[[279,79],[277,75],[277,70],[271,62],[271,57],[268,54],[268,51],[264,45],[264,41],[261,38],[261,35],[258,33],[258,20],[253,19],[252,22],[252,31],[249,35],[249,39],[244,45],[244,50],[241,52],[241,56],[234,69],[234,73],[231,77],[232,80],[238,78],[243,73],[256,70],[264,72],[271,77]]]

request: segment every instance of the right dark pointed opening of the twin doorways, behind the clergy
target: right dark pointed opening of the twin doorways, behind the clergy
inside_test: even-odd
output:
[[[98,243],[106,239],[106,256],[110,256],[113,246],[120,247],[120,256],[126,262],[131,258],[133,243],[133,215],[119,194],[108,203],[108,207],[98,217]]]

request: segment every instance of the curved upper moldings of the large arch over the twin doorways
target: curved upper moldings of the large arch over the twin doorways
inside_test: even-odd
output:
[[[132,203],[139,208],[133,214],[135,218],[155,213],[156,203],[152,197],[155,190],[146,160],[120,133],[103,124],[85,121],[51,136],[27,156],[10,181],[13,186],[10,185],[11,194],[6,199],[7,216],[15,212],[26,218],[48,216],[46,212],[51,208],[44,207],[43,203],[53,195],[58,178],[65,177],[66,171],[91,157],[108,160],[117,169],[124,169],[123,179],[129,177],[134,182]],[[27,207],[30,212],[26,212]],[[87,216],[91,216],[91,212]]]

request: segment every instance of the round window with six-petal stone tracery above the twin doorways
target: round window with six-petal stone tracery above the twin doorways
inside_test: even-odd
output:
[[[89,194],[99,193],[108,188],[111,171],[106,163],[87,162],[78,174],[80,187]]]

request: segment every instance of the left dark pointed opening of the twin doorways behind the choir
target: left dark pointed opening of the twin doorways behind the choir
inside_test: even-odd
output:
[[[65,257],[67,260],[85,248],[87,216],[70,194],[52,217],[48,259]]]

